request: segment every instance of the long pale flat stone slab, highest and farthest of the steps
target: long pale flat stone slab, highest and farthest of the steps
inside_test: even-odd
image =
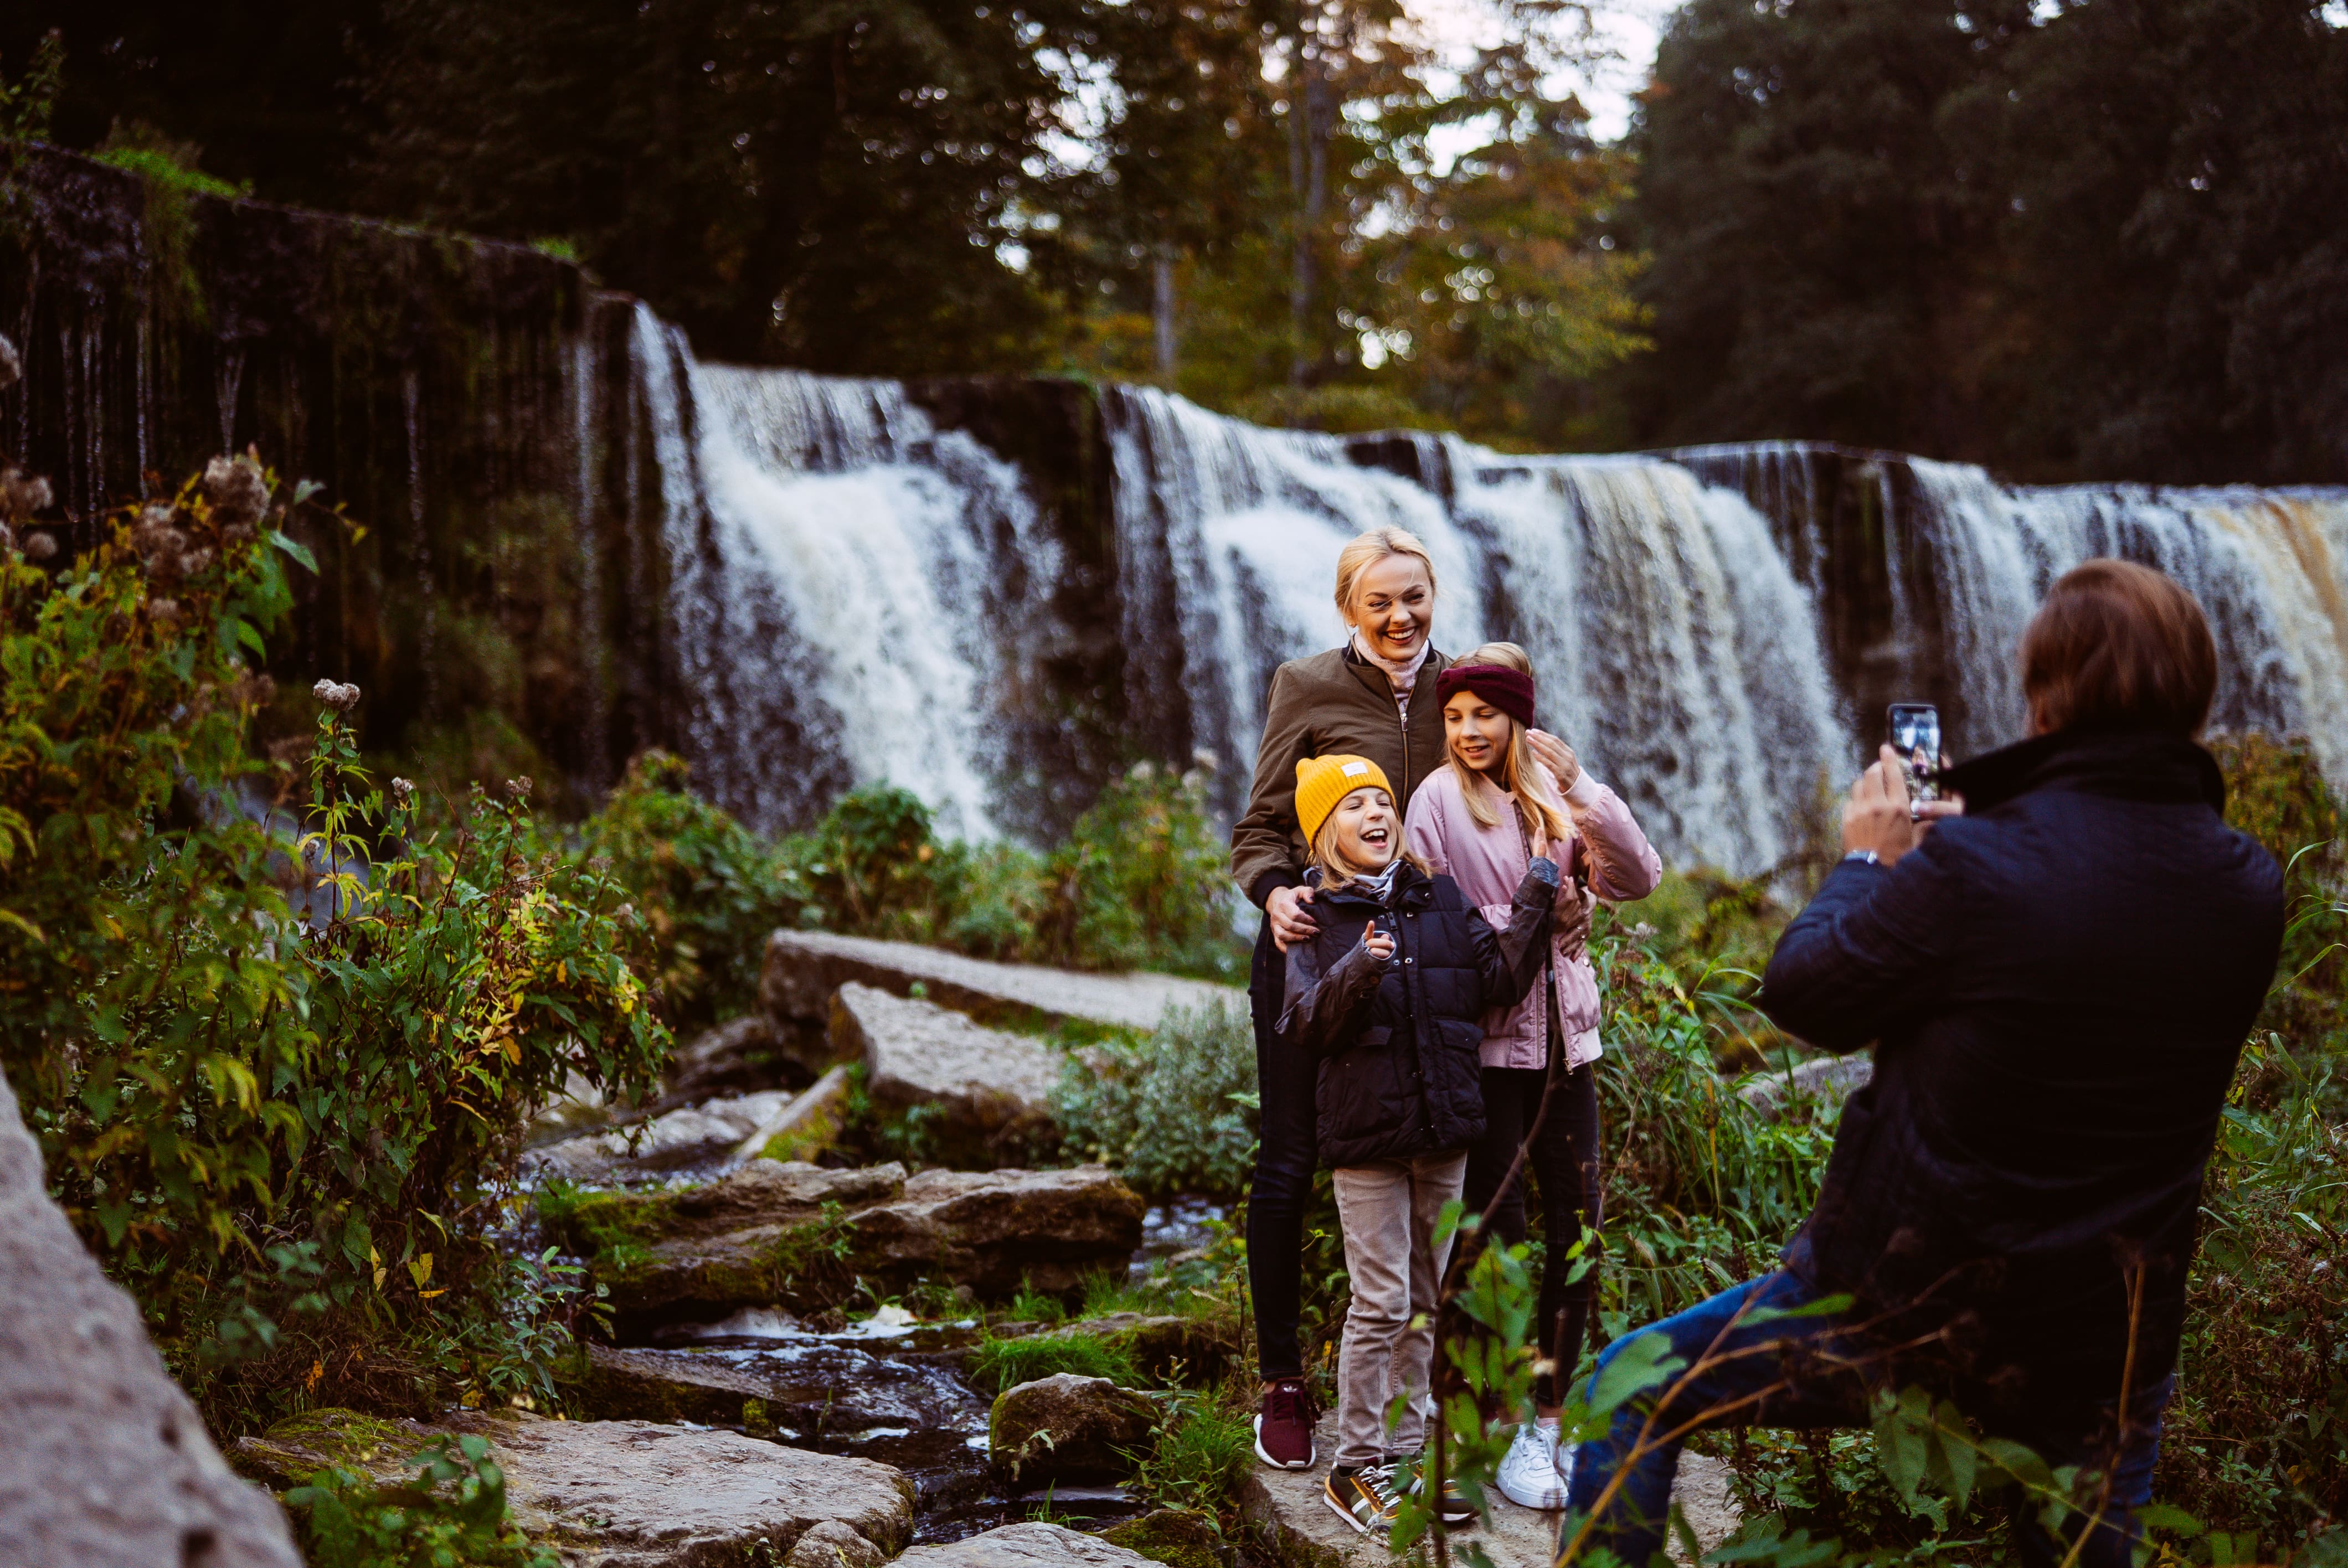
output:
[[[1247,1007],[1237,986],[1174,974],[1080,974],[1043,965],[998,965],[913,941],[838,937],[834,932],[775,932],[758,979],[761,1007],[784,1021],[822,1023],[831,993],[857,981],[895,995],[920,995],[986,1023],[1106,1023],[1158,1028],[1167,1007],[1228,1002]]]

